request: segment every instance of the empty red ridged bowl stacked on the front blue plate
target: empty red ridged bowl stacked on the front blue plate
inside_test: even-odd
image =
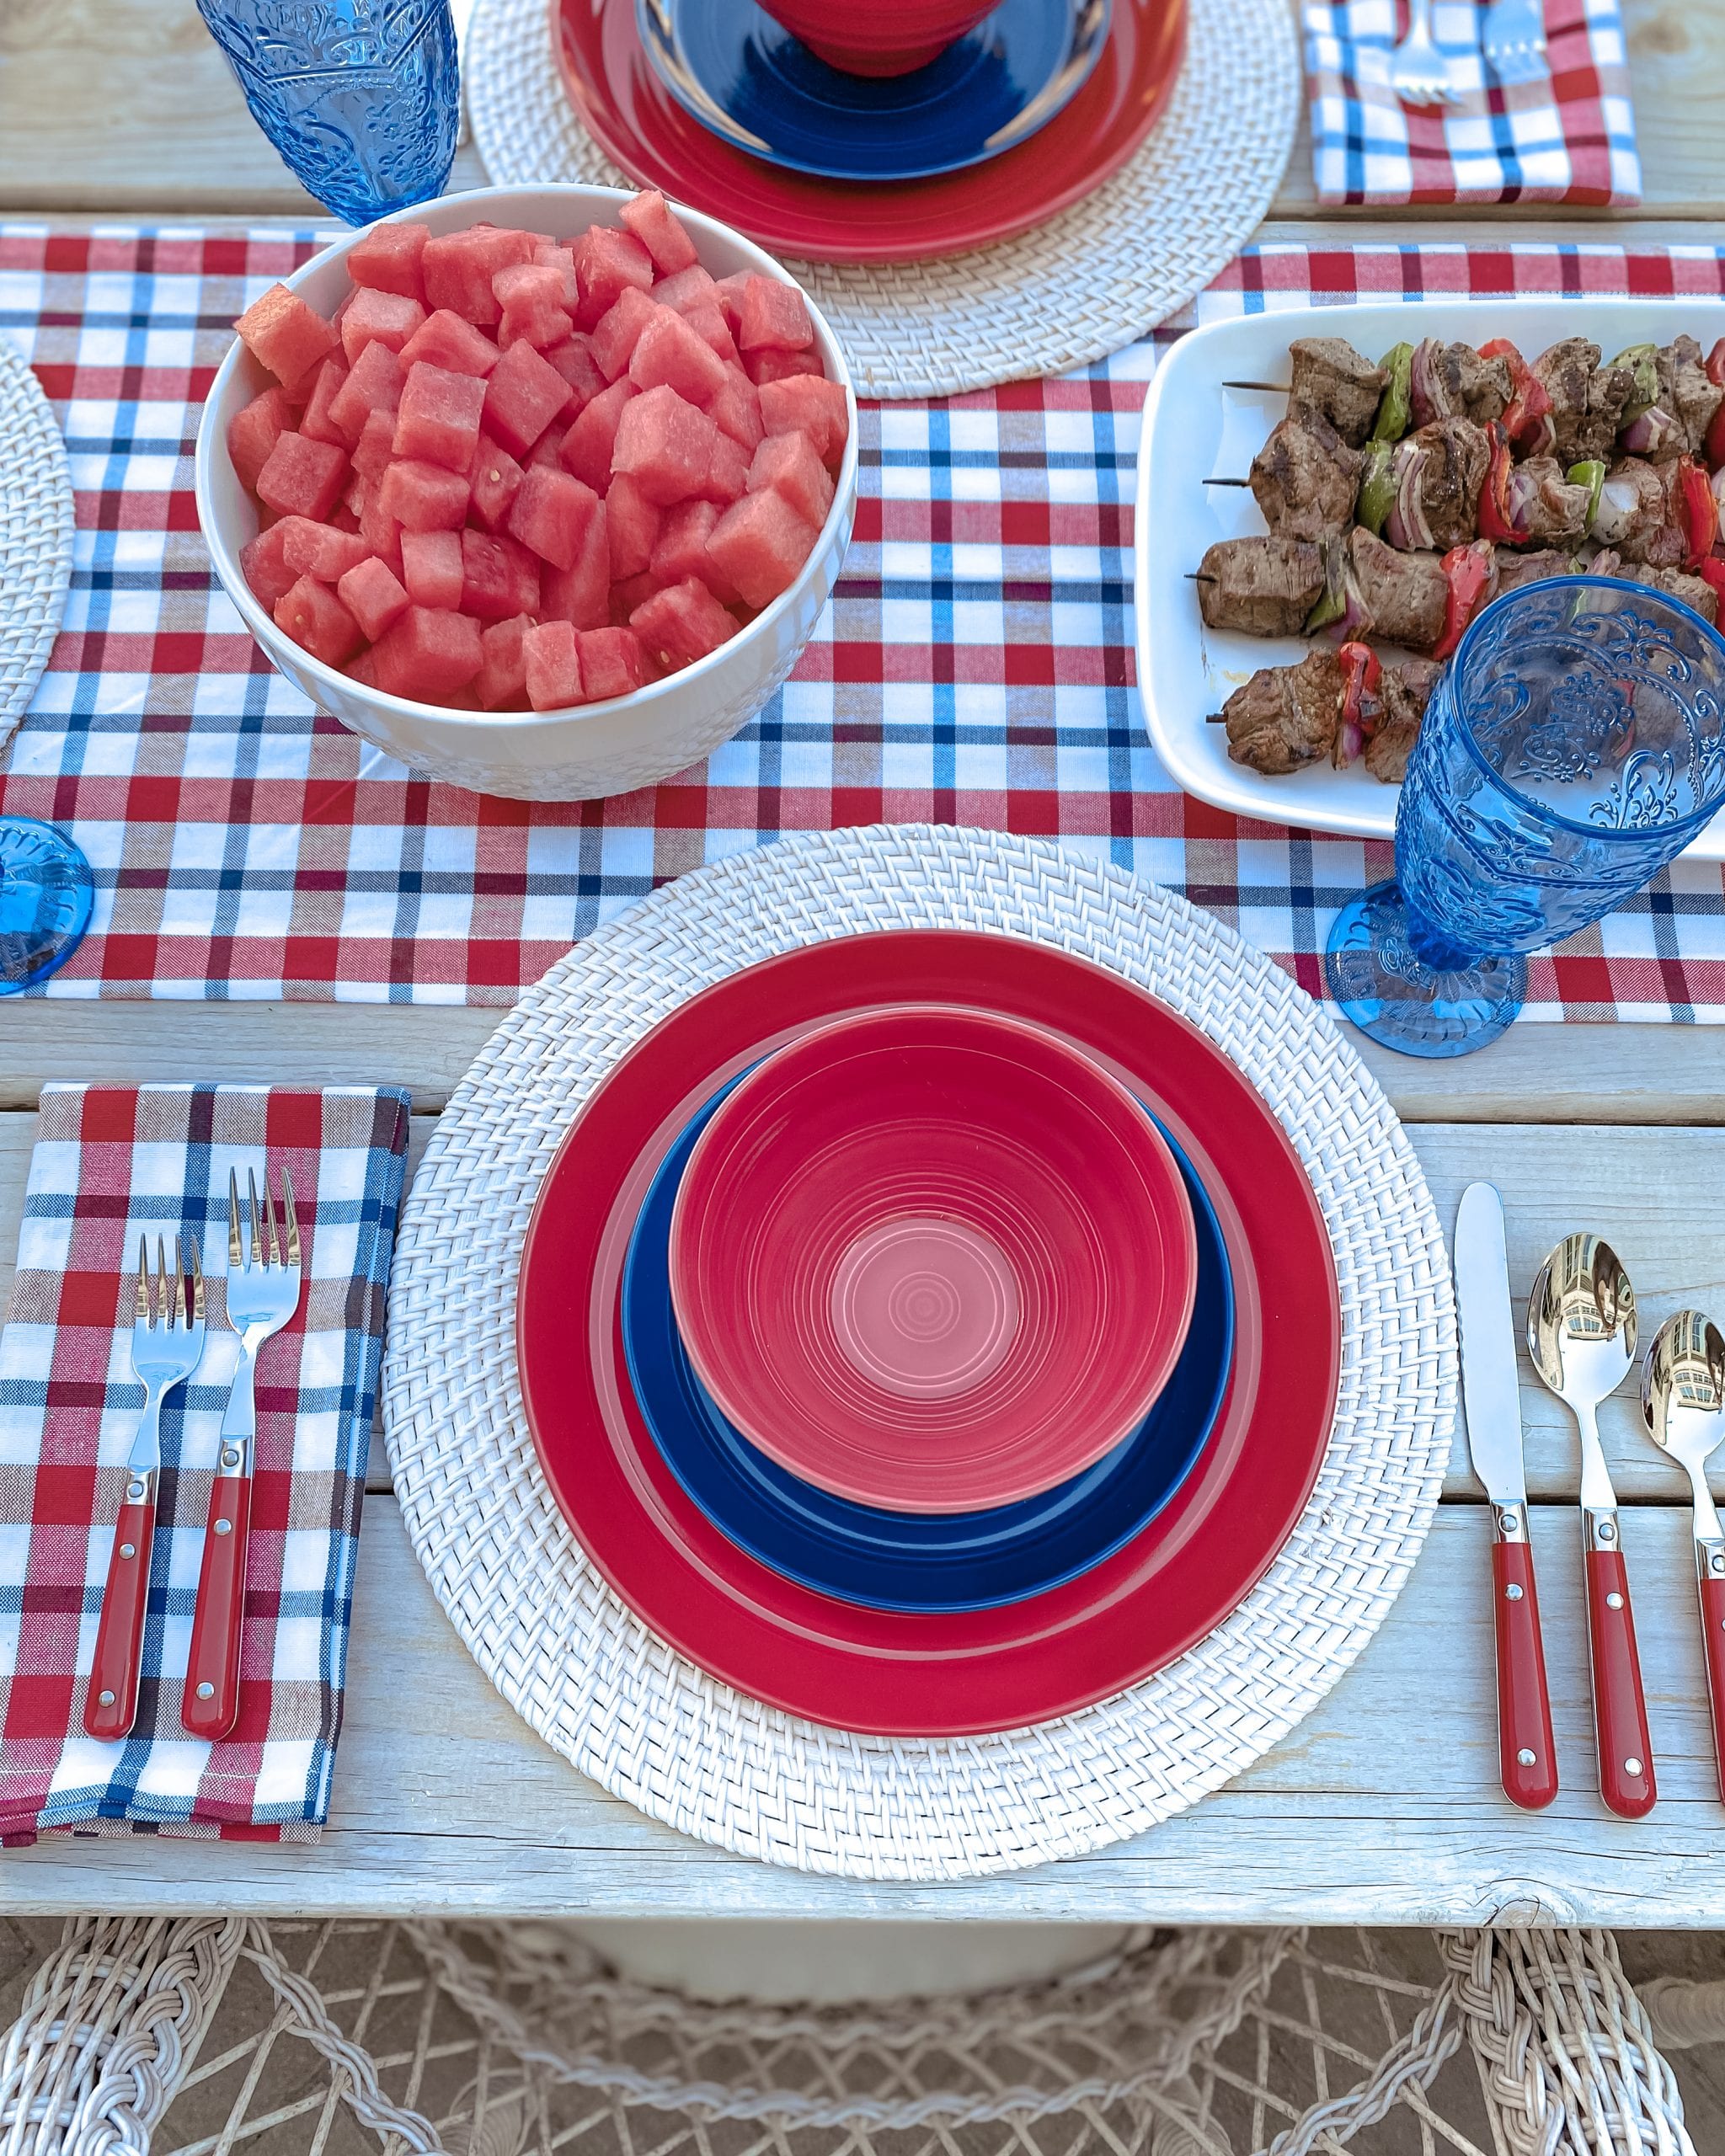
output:
[[[1119,1080],[1037,1026],[869,1011],[753,1072],[690,1153],[671,1298],[761,1451],[966,1511],[1100,1460],[1186,1339],[1197,1238]]]

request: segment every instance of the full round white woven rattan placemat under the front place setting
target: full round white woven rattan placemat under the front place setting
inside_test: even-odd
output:
[[[1313,1498],[1190,1654],[1057,1723],[891,1740],[817,1727],[699,1671],[589,1565],[515,1380],[539,1181],[610,1065],[681,1000],[800,944],[966,927],[1059,944],[1216,1039],[1287,1128],[1341,1279],[1343,1367]],[[929,826],[817,832],[679,877],[561,959],[455,1089],[414,1177],[384,1429],[414,1550],[502,1697],[584,1774],[690,1835],[858,1878],[962,1878],[1119,1841],[1268,1751],[1395,1600],[1455,1399],[1449,1266],[1425,1179],[1330,1020],[1210,914],[1050,845]]]

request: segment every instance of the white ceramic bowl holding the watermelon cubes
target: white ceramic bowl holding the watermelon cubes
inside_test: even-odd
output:
[[[589,224],[615,224],[627,194],[617,188],[479,188],[438,203],[403,209],[386,224],[423,222],[433,233],[457,233],[481,220],[518,224],[567,239]],[[677,205],[677,216],[714,276],[755,270],[785,278],[778,263],[727,224]],[[334,313],[347,291],[345,257],[354,239],[336,241],[285,282],[321,315]],[[789,282],[789,278],[787,278]],[[809,298],[804,293],[804,298]],[[709,651],[677,675],[632,696],[578,705],[571,711],[451,711],[410,703],[351,681],[302,651],[252,597],[239,571],[239,550],[257,537],[257,502],[229,461],[229,420],[274,379],[235,338],[216,371],[198,427],[196,496],[209,558],[222,589],[239,608],[270,660],[323,711],[416,772],[513,800],[571,802],[597,793],[647,787],[727,742],[772,696],[809,642],[845,558],[856,515],[856,390],[845,356],[822,310],[809,300],[815,345],[832,382],[845,388],[850,440],[815,550],[783,591],[731,642]]]

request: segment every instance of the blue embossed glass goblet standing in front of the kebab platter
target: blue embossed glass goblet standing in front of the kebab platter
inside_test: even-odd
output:
[[[1522,584],[1432,694],[1395,882],[1337,916],[1330,994],[1384,1048],[1471,1054],[1520,1011],[1527,951],[1622,906],[1721,806],[1725,638],[1641,584]]]

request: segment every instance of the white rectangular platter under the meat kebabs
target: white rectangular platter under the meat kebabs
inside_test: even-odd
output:
[[[1169,776],[1199,800],[1266,824],[1335,830],[1363,839],[1395,832],[1399,787],[1363,765],[1343,772],[1313,765],[1266,778],[1229,761],[1212,711],[1259,666],[1296,662],[1298,638],[1238,636],[1205,630],[1190,571],[1216,539],[1261,533],[1264,517],[1246,487],[1205,485],[1244,479],[1287,399],[1229,390],[1227,382],[1287,382],[1296,336],[1346,336],[1376,360],[1402,341],[1462,338],[1484,345],[1509,336],[1531,360],[1561,336],[1591,336],[1611,358],[1626,345],[1669,343],[1688,332],[1703,351],[1725,336],[1725,300],[1423,300],[1382,306],[1302,306],[1212,321],[1179,343],[1156,369],[1138,444],[1134,520],[1134,610],[1138,688],[1149,740]],[[1714,817],[1688,860],[1725,860],[1725,815]]]

